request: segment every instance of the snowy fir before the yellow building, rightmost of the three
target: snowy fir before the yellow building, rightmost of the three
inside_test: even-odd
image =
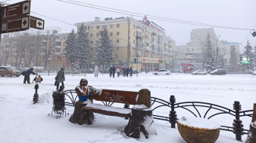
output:
[[[112,44],[108,37],[107,29],[102,30],[100,36],[95,60],[98,62],[98,65],[109,64],[112,60]]]

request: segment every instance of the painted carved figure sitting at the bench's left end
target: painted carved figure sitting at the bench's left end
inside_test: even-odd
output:
[[[89,87],[86,79],[81,79],[80,86],[76,87],[76,93],[80,102],[85,102],[89,98]]]

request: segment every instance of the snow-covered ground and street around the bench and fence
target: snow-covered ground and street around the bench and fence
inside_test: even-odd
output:
[[[34,78],[33,75],[30,78]],[[56,114],[48,117],[52,111],[52,91],[55,91],[55,76],[42,75],[39,84],[39,103],[33,104],[34,84],[23,84],[23,76],[19,78],[0,77],[0,142],[186,142],[178,129],[170,128],[170,123],[154,120],[158,135],[148,139],[136,140],[127,138],[122,130],[128,120],[122,117],[111,117],[95,114],[92,125],[70,123],[70,115],[56,119]],[[170,95],[176,102],[210,102],[233,109],[234,101],[239,101],[242,110],[252,110],[256,102],[256,76],[253,75],[184,75],[155,76],[151,74],[133,75],[132,78],[110,78],[109,75],[88,74],[84,76],[66,75],[65,90],[74,90],[81,78],[86,78],[89,85],[95,88],[111,90],[139,91],[147,88],[151,96],[169,101]],[[67,112],[73,114],[73,107],[66,106]],[[159,108],[158,113],[168,116],[170,108]],[[154,114],[154,112],[153,112]],[[178,118],[192,116],[185,111],[177,111]],[[215,120],[221,125],[232,126],[234,117],[217,116]],[[249,129],[250,117],[242,117],[245,129]],[[245,141],[247,135],[242,135]],[[236,141],[233,132],[220,131],[218,143]]]

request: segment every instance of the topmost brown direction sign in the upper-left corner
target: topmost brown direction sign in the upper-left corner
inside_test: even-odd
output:
[[[2,20],[30,14],[30,1],[18,2],[2,8]]]

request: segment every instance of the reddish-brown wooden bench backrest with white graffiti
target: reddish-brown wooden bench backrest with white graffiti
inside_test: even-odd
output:
[[[151,94],[147,89],[139,90],[139,92],[102,89],[101,94],[94,96],[93,99],[102,102],[118,102],[128,105],[143,104],[148,108],[151,107]]]

